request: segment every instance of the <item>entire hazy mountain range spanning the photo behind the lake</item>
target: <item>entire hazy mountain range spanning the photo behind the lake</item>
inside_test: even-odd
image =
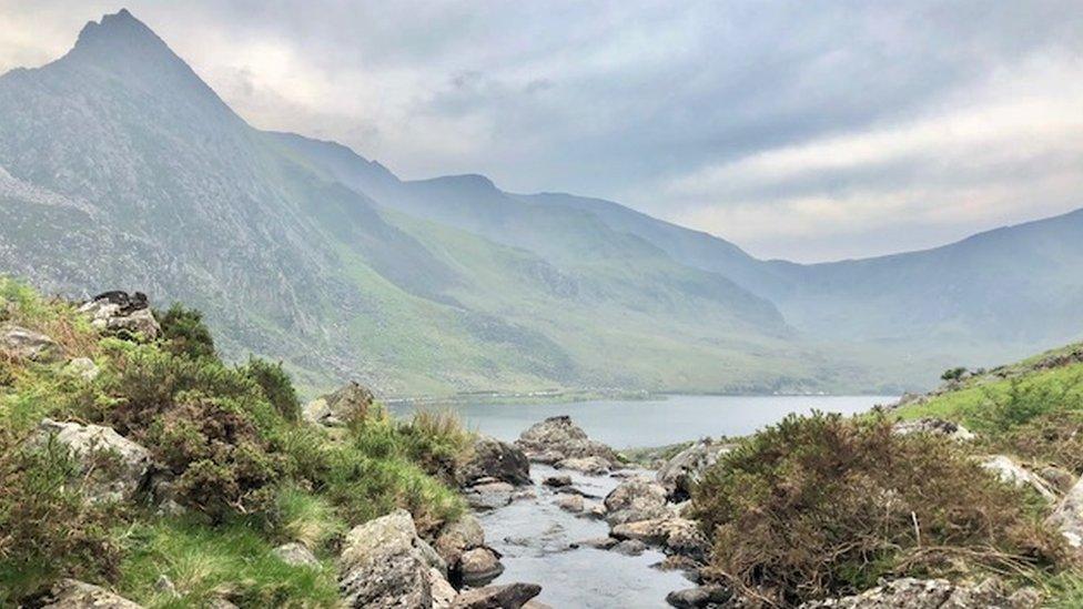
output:
[[[1083,334],[1083,212],[760,261],[617,203],[253,129],[128,11],[0,77],[0,273],[204,309],[316,388],[901,390]]]

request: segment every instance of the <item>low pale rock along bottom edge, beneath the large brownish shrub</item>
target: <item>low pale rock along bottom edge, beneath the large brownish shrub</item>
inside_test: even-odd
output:
[[[1006,593],[995,579],[976,586],[957,585],[945,579],[897,579],[860,595],[802,605],[802,609],[942,609],[990,608],[1033,609],[1041,596],[1031,588]]]

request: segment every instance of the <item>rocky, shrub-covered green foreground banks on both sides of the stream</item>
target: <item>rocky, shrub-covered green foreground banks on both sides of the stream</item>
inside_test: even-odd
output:
[[[1083,602],[1083,345],[618,454],[568,417],[515,445],[396,418],[356,384],[303,405],[281,364],[222,362],[196,311],[0,278],[0,605],[536,607],[538,586],[487,586],[503,567],[470,516],[529,500],[528,460],[657,470],[560,505],[609,522],[598,547],[661,548],[696,582],[678,607]]]

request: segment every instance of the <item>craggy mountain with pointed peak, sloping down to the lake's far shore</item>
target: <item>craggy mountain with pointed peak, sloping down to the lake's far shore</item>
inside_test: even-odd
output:
[[[838,384],[769,301],[589,214],[253,129],[128,11],[0,77],[0,271],[193,304],[311,387]]]

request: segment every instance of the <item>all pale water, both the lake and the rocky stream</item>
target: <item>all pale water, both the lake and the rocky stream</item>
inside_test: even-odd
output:
[[[670,396],[575,404],[457,404],[449,408],[470,428],[507,441],[546,417],[570,415],[591,438],[619,449],[705,436],[741,436],[790,413],[854,414],[893,400],[889,396]],[[398,415],[412,409],[392,407]],[[539,583],[537,600],[559,609],[667,607],[668,592],[694,586],[679,571],[652,568],[665,558],[660,551],[648,549],[632,557],[585,546],[574,548],[578,541],[607,536],[609,527],[603,520],[558,508],[559,496],[540,484],[554,471],[532,464],[536,498],[518,499],[478,515],[487,542],[504,555],[505,571],[494,583]],[[560,473],[570,474],[574,486],[593,496],[587,498],[588,508],[620,483],[610,476]]]

